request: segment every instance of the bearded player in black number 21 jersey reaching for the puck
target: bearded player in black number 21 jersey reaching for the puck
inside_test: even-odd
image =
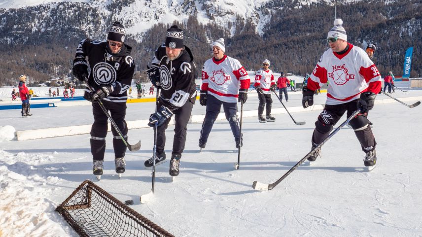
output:
[[[183,31],[172,26],[167,30],[166,43],[155,51],[155,58],[147,75],[152,84],[161,89],[157,111],[149,118],[149,126],[157,123],[156,164],[166,159],[164,145],[165,131],[170,118],[175,114],[175,136],[169,173],[179,174],[180,157],[186,142],[187,123],[196,100],[195,64],[188,47],[183,44]],[[153,166],[154,156],[145,161],[146,167]]]

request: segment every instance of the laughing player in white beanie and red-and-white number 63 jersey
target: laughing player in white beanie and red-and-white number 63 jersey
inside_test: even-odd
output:
[[[213,57],[204,63],[199,102],[207,105],[202,124],[199,147],[205,148],[212,125],[223,105],[226,119],[236,141],[236,148],[242,147],[239,119],[236,114],[237,102],[245,103],[250,79],[245,68],[234,58],[224,55],[224,39],[219,38],[211,45]]]

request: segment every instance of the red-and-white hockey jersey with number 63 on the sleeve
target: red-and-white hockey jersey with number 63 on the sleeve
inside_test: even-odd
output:
[[[247,90],[249,84],[249,75],[237,59],[224,55],[219,61],[211,58],[204,63],[201,90],[220,101],[237,102],[239,89]]]

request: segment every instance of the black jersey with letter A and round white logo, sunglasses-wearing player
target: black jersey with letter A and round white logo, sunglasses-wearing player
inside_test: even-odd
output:
[[[106,41],[93,41],[86,38],[76,49],[75,58],[88,57],[89,74],[88,83],[98,89],[100,86],[111,86],[110,95],[104,98],[110,102],[126,102],[135,65],[130,53],[132,47],[123,44],[119,53],[111,54]]]

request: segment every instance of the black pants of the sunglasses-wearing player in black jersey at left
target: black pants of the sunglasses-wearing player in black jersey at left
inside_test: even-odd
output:
[[[117,127],[127,140],[128,126],[125,121],[126,103],[107,102],[104,100],[102,102],[106,109],[110,111],[111,118],[116,122]],[[98,103],[92,103],[92,113],[94,114],[94,123],[91,127],[91,154],[94,161],[103,161],[106,151],[108,118]],[[111,133],[113,134],[114,157],[125,157],[126,145],[113,126],[111,126]]]

